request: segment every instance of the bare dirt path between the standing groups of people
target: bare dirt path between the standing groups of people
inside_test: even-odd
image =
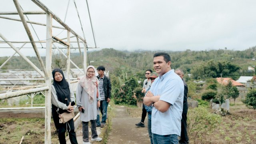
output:
[[[132,118],[128,115],[125,106],[116,106],[108,144],[150,144],[147,128],[148,119],[145,120],[144,128],[135,126],[139,121],[140,118]]]

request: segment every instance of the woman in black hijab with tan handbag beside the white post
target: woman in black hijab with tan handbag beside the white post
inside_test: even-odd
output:
[[[74,106],[71,102],[75,101],[75,96],[70,89],[70,84],[65,80],[64,74],[60,68],[52,71],[52,118],[58,132],[60,144],[66,144],[65,133],[68,132],[71,144],[78,144],[74,128],[74,120],[71,119],[66,123],[60,123],[58,113],[73,112]],[[58,112],[57,112],[58,111]]]

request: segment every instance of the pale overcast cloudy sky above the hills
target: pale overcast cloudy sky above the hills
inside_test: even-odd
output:
[[[88,47],[95,47],[86,0],[75,1]],[[40,10],[30,0],[19,2],[24,11]],[[64,21],[68,0],[41,2]],[[99,49],[245,50],[256,46],[255,0],[88,0],[88,4]],[[11,0],[2,0],[0,11],[16,11],[16,8]],[[18,15],[0,16],[20,19]],[[27,16],[31,21],[46,23],[45,15]],[[66,23],[83,37],[74,0],[69,2]],[[0,25],[0,33],[9,41],[29,40],[21,22],[0,18]],[[60,26],[55,21],[53,25]],[[39,39],[45,40],[45,26],[33,26]],[[38,40],[31,26],[30,30],[34,39]],[[53,35],[59,38],[65,38],[66,33],[65,30],[53,29]],[[14,45],[20,47],[22,44]],[[76,47],[76,44],[73,46]],[[14,52],[3,47],[9,46],[0,44],[0,56],[9,56]],[[31,44],[24,47],[31,47]],[[38,47],[42,46],[38,44]],[[22,52],[34,54],[33,49],[28,48],[22,48]],[[40,53],[45,55],[44,49],[40,49]]]

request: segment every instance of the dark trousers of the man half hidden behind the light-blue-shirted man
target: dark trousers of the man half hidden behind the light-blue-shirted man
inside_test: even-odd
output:
[[[181,144],[188,144],[188,132],[187,132],[187,114],[182,114],[181,119],[181,134],[180,140]]]

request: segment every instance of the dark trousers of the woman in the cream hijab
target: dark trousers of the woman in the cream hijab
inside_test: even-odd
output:
[[[96,131],[96,120],[91,121],[91,131],[92,131],[92,138],[98,138],[98,134]],[[83,130],[83,141],[89,142],[89,122],[82,122],[82,130]]]

